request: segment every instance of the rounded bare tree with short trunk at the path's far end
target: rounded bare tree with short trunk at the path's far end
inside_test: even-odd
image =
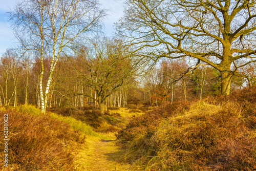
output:
[[[93,40],[91,47],[82,47],[70,61],[77,71],[78,80],[95,91],[97,97],[93,94],[84,96],[97,101],[101,113],[107,110],[106,99],[129,83],[139,70],[139,61],[133,52],[114,38]]]

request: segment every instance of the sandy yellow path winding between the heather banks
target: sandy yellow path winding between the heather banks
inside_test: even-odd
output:
[[[127,111],[118,111],[123,117],[123,125],[126,125],[132,114],[127,114]],[[79,152],[76,154],[78,161],[77,170],[85,171],[122,171],[130,170],[131,165],[120,161],[124,152],[115,143],[114,134],[110,140],[103,140],[95,137],[87,137],[87,144],[84,147],[79,147]]]

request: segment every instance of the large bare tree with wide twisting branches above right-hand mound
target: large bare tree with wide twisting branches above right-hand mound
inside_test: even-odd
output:
[[[255,3],[127,0],[116,26],[127,44],[153,60],[193,57],[214,67],[221,73],[221,94],[228,95],[232,76],[256,61]]]

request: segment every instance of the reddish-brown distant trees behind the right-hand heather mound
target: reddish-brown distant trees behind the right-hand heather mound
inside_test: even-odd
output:
[[[238,71],[243,77],[232,78],[231,92],[255,85],[256,71],[253,65],[255,64]],[[145,76],[142,87],[133,89],[136,90],[130,91],[134,94],[129,96],[132,103],[158,105],[164,102],[202,99],[221,93],[221,75],[208,65],[202,64],[194,69],[185,60],[167,59]]]

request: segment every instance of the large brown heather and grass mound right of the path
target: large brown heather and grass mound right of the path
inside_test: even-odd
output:
[[[255,104],[251,88],[160,106],[119,132],[124,159],[134,170],[255,170]]]

